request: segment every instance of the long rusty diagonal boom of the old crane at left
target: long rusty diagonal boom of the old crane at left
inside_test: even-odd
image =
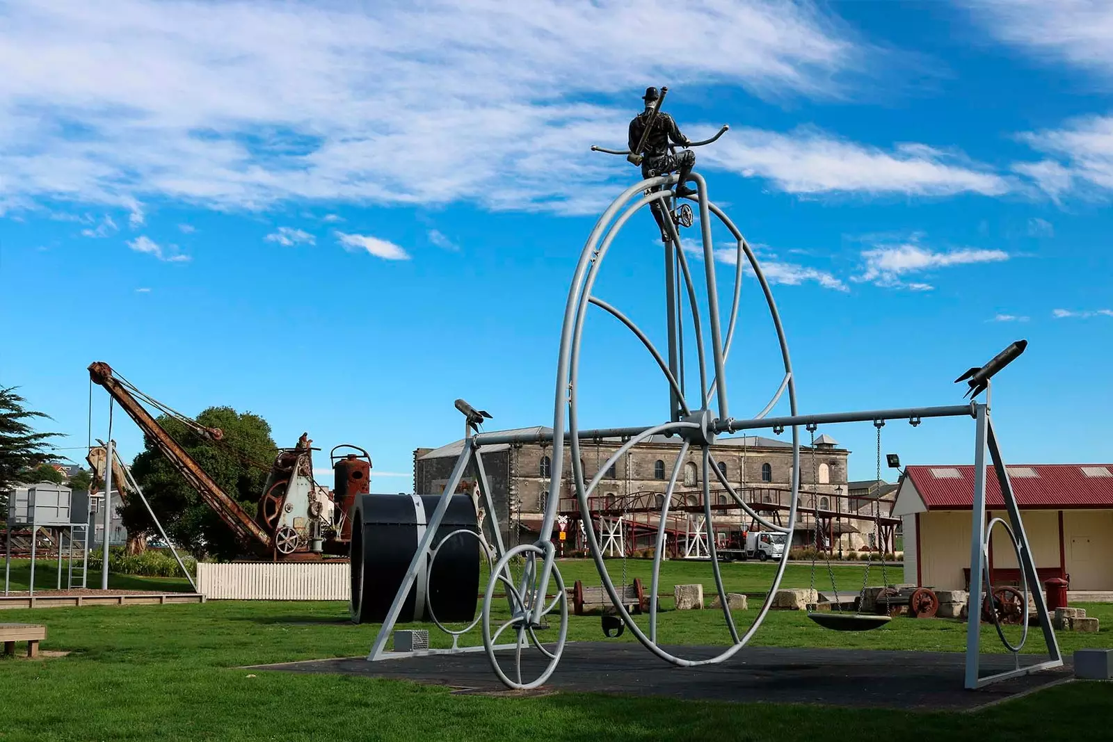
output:
[[[112,399],[119,403],[124,412],[136,422],[139,429],[150,436],[174,468],[197,489],[205,504],[213,508],[240,541],[248,544],[254,542],[263,550],[272,550],[270,535],[201,469],[197,462],[186,453],[186,449],[178,445],[178,442],[171,438],[170,434],[131,396],[131,393],[112,376],[111,366],[101,360],[95,362],[89,365],[89,377],[93,383],[105,387]]]

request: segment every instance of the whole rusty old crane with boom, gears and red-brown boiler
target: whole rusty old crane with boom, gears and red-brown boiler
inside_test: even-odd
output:
[[[318,560],[347,555],[352,526],[348,520],[358,494],[367,493],[371,481],[371,456],[357,446],[333,449],[337,492],[318,485],[313,478],[312,441],[302,434],[293,448],[279,449],[269,465],[269,474],[253,517],[218,485],[186,449],[147,412],[139,399],[170,415],[194,433],[217,445],[226,446],[242,461],[244,456],[224,442],[219,428],[200,425],[144,394],[131,383],[114,374],[112,368],[96,362],[89,366],[89,377],[102,386],[166,456],[175,469],[197,489],[201,499],[224,521],[239,541],[258,554],[275,561]],[[338,448],[359,452],[336,458]],[[266,467],[258,462],[245,462]]]

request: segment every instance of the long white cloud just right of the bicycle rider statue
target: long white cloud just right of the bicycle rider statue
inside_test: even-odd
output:
[[[747,177],[768,178],[792,194],[998,196],[1014,187],[955,152],[910,144],[885,150],[812,128],[789,133],[731,129],[697,158]]]

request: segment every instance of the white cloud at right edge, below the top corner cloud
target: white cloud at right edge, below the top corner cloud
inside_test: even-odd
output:
[[[1077,118],[1060,129],[1022,133],[1020,139],[1047,157],[1016,164],[1013,169],[1052,198],[1057,200],[1074,189],[1083,195],[1107,196],[1113,191],[1113,116]]]

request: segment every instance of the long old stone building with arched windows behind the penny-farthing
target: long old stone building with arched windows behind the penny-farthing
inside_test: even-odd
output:
[[[521,428],[515,433],[549,432],[549,428]],[[787,436],[786,436],[787,437]],[[417,448],[414,452],[414,487],[421,494],[440,494],[452,473],[456,457],[460,455],[462,441],[455,441],[440,448]],[[622,445],[618,438],[584,441],[580,447],[580,458],[584,476],[590,481],[605,464],[608,458]],[[589,503],[592,513],[610,512],[618,515],[626,509],[659,509],[663,493],[668,486],[672,467],[680,448],[677,437],[653,436],[631,448],[626,455],[604,472],[595,488],[592,502]],[[846,545],[854,547],[860,538],[854,538],[858,528],[849,521],[826,517],[846,509],[847,457],[849,453],[839,448],[830,436],[816,439],[815,455],[807,446],[800,451],[800,489],[799,506],[815,512],[820,511],[820,530],[828,534],[846,534]],[[541,514],[545,502],[552,496],[560,497],[559,512],[579,516],[579,506],[572,486],[570,464],[571,452],[564,449],[564,466],[559,485],[552,483],[552,444],[529,443],[521,445],[492,445],[481,451],[483,466],[490,481],[492,496],[495,503],[499,522],[505,524],[504,537],[510,543],[521,540],[521,533],[512,531],[529,531],[536,533],[541,524]],[[751,503],[764,503],[769,520],[784,522],[791,491],[792,447],[788,441],[766,438],[761,436],[720,437],[716,441],[715,455],[717,465],[731,487]],[[703,483],[700,478],[699,449],[690,449],[681,464],[673,493],[673,504],[688,506],[693,518],[699,517],[703,501]],[[469,467],[464,473],[462,489],[474,486],[475,473]],[[718,477],[710,482],[711,505],[722,508],[715,515],[717,527],[720,521],[742,523],[739,511],[721,486]],[[815,494],[812,494],[812,491]],[[660,496],[658,496],[660,495]],[[841,503],[841,505],[839,504]],[[698,507],[697,507],[698,506]],[[670,505],[671,507],[671,505]],[[760,509],[760,508],[759,508]],[[801,544],[814,540],[814,515],[798,515],[796,543]],[[632,518],[638,521],[638,517]],[[829,521],[829,523],[828,523]],[[748,521],[746,521],[748,523]],[[656,530],[657,521],[641,518],[646,531]],[[676,524],[673,524],[676,525]],[[650,527],[651,526],[651,527]],[[677,528],[679,530],[679,525]],[[693,527],[693,526],[692,526]],[[810,535],[808,532],[811,532]],[[634,534],[634,542],[638,542]]]

